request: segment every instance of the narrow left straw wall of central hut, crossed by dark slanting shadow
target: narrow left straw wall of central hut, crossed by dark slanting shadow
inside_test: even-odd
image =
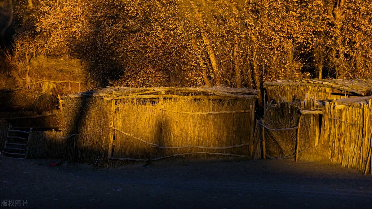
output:
[[[106,166],[110,134],[110,101],[102,97],[66,97],[59,117],[66,138],[64,160]]]

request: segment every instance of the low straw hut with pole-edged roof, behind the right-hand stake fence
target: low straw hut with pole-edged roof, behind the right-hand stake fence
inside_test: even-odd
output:
[[[268,101],[303,101],[305,95],[317,100],[334,100],[348,97],[371,96],[372,80],[276,80],[263,83]]]

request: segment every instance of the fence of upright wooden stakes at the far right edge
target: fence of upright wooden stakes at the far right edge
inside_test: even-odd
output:
[[[322,145],[329,158],[343,167],[371,173],[372,97],[327,102],[323,116]]]

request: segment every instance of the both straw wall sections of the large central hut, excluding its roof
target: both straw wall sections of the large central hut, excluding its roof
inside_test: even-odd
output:
[[[130,94],[133,92],[131,91]],[[104,97],[99,96],[65,97],[64,111],[60,117],[63,136],[78,134],[78,136],[66,139],[68,150],[66,160],[70,163],[105,166],[108,163],[109,136],[113,132],[110,128],[111,117],[114,117],[115,128],[161,147],[185,145],[227,147],[248,144],[228,149],[155,148],[115,131],[113,140],[113,157],[115,158],[150,159],[190,152],[250,155],[251,146],[249,145],[253,140],[254,131],[250,109],[252,108],[253,111],[255,97],[239,96],[238,98],[240,99],[185,99],[180,97],[105,100]],[[115,113],[110,112],[112,102],[115,102]],[[235,110],[247,110],[248,112],[188,114],[190,112]],[[203,155],[195,154],[186,157],[203,157]],[[120,164],[122,164],[121,161],[111,163],[113,166]]]

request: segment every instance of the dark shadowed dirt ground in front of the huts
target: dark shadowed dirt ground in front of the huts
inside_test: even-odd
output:
[[[162,161],[116,169],[0,157],[0,200],[28,208],[371,208],[372,177],[327,163]],[[21,207],[14,207],[21,208]]]

